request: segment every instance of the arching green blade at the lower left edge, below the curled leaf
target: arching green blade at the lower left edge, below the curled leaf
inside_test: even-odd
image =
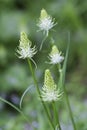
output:
[[[3,99],[2,97],[0,97],[0,100],[8,105],[10,105],[11,107],[13,107],[16,111],[18,111],[23,117],[24,119],[29,122],[28,118],[24,115],[24,113],[18,108],[16,107],[15,105],[13,105],[12,103],[10,103],[9,101]]]

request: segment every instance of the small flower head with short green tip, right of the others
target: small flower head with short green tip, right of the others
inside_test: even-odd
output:
[[[64,57],[61,55],[56,45],[52,46],[52,51],[49,54],[50,64],[59,64],[64,60]]]

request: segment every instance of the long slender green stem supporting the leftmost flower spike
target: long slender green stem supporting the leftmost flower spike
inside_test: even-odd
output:
[[[44,101],[42,100],[42,97],[41,97],[41,94],[40,94],[40,90],[39,90],[39,87],[38,87],[38,83],[37,83],[37,80],[36,80],[36,76],[35,76],[35,74],[34,74],[34,71],[33,71],[32,65],[31,65],[31,61],[30,61],[29,59],[28,59],[28,64],[29,64],[29,67],[30,67],[30,70],[31,70],[31,73],[32,73],[32,77],[33,77],[33,80],[34,80],[34,84],[35,84],[35,86],[36,86],[37,92],[38,92],[39,97],[40,97],[40,99],[41,99],[42,105],[43,105],[43,107],[44,107],[44,110],[45,110],[46,115],[47,115],[47,117],[48,117],[48,120],[49,120],[49,122],[50,122],[50,125],[52,126],[53,129],[55,129],[54,124],[53,124],[53,122],[51,121],[51,117],[50,117],[50,115],[49,115],[49,112],[48,112],[48,110],[47,110],[47,107],[46,107]]]

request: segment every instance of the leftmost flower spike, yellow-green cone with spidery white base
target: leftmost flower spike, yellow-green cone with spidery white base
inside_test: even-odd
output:
[[[29,58],[32,59],[32,57],[36,54],[36,46],[31,48],[31,41],[28,39],[27,34],[25,32],[21,32],[20,35],[20,44],[17,49],[18,57],[25,59]]]

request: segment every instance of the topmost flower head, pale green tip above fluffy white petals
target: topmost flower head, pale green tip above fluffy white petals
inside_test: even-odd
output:
[[[44,33],[46,33],[46,36],[48,36],[49,30],[53,28],[55,25],[56,23],[54,23],[54,19],[52,19],[52,17],[47,14],[45,9],[42,9],[39,22],[37,24],[40,31],[44,31]]]

